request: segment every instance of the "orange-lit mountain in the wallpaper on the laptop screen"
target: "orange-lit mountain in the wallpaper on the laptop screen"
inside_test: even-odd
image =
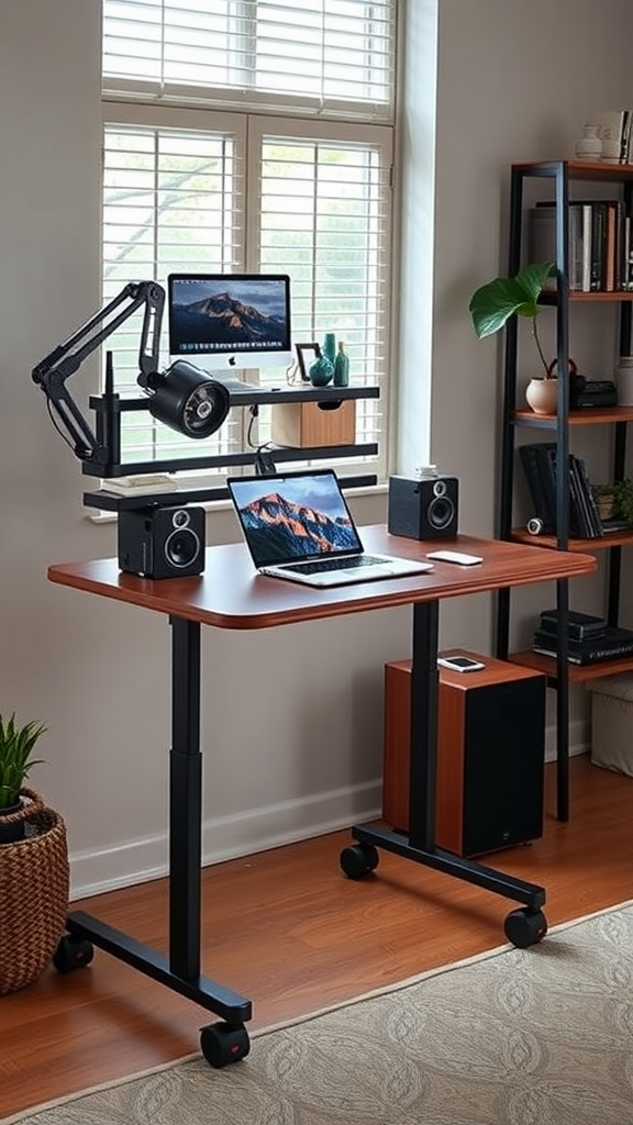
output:
[[[240,513],[257,566],[358,546],[348,519],[332,520],[278,493],[246,504]]]

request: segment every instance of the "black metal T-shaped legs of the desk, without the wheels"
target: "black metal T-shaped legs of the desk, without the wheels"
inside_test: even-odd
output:
[[[416,602],[412,611],[409,837],[373,825],[355,826],[351,829],[353,836],[359,844],[385,848],[403,858],[523,902],[531,914],[536,914],[545,902],[542,886],[512,879],[435,846],[439,604],[437,601]],[[251,1001],[216,981],[200,976],[202,627],[198,622],[181,618],[171,616],[169,620],[172,630],[169,955],[164,957],[155,953],[83,911],[69,915],[66,929],[75,938],[93,943],[237,1027],[251,1019]],[[524,942],[519,940],[517,944]]]

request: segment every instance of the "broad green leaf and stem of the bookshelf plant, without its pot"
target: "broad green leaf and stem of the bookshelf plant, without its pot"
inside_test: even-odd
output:
[[[480,340],[499,332],[510,316],[524,316],[532,321],[532,335],[543,364],[544,377],[554,378],[554,369],[547,363],[538,339],[537,317],[541,312],[538,298],[547,278],[554,277],[554,262],[536,262],[524,266],[514,278],[494,278],[475,289],[469,310],[475,333]]]

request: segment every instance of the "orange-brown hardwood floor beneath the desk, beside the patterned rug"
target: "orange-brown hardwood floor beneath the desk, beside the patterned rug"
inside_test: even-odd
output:
[[[484,862],[544,885],[552,927],[633,898],[633,778],[572,759],[563,825],[546,774],[543,838]],[[374,875],[349,881],[348,843],[335,832],[205,870],[203,971],[252,999],[250,1030],[503,944],[515,903],[384,852]],[[164,880],[79,906],[164,948]],[[0,1119],[196,1052],[216,1018],[99,951],[0,1005]]]

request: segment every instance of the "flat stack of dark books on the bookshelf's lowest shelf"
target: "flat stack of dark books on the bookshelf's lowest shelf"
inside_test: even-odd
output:
[[[543,610],[532,648],[543,656],[559,655],[559,611]],[[633,657],[633,629],[608,626],[605,618],[591,613],[568,613],[568,663],[598,664],[601,660]]]

